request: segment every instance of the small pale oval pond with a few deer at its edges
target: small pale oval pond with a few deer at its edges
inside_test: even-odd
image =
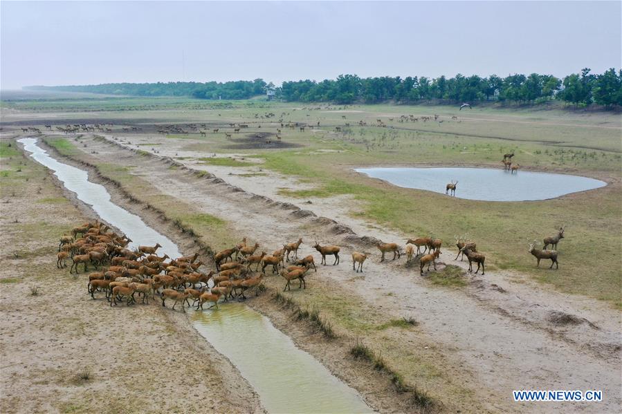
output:
[[[607,185],[601,180],[582,176],[531,171],[518,171],[512,174],[502,168],[358,168],[356,171],[399,187],[441,194],[445,194],[449,182],[457,180],[455,195],[467,200],[547,200]]]

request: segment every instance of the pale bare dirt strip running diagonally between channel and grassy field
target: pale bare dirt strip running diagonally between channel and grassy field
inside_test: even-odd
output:
[[[489,393],[486,402],[497,411],[525,408],[511,401],[514,389],[603,390],[605,400],[598,405],[550,402],[545,410],[568,410],[570,406],[571,411],[587,412],[619,409],[619,313],[602,303],[548,292],[531,283],[513,283],[521,276],[509,272],[475,276],[464,290],[436,288],[405,268],[403,259],[377,263],[377,256],[366,263],[365,276],[354,283],[349,252],[372,251],[374,247],[363,243],[365,239],[347,227],[315,214],[338,216],[361,236],[402,241],[407,235],[369,227],[369,223],[349,218],[342,207],[331,203],[305,205],[315,214],[274,203],[261,195],[274,194],[270,185],[266,190],[255,182],[249,188],[257,194],[253,196],[220,180],[198,178],[183,169],[167,169],[170,164],[137,157],[116,145],[92,141],[89,151],[107,162],[135,165],[132,172],[158,182],[163,194],[184,200],[192,194],[192,201],[201,211],[226,218],[240,234],[262,241],[269,248],[277,248],[301,234],[306,241],[300,252],[303,255],[313,253],[309,243],[314,239],[341,245],[342,265],[322,267],[318,281],[347,285],[370,310],[395,317],[416,314],[422,330],[437,341],[439,348],[453,360],[461,361],[464,371],[475,373],[471,380]],[[451,252],[441,261],[453,263]]]

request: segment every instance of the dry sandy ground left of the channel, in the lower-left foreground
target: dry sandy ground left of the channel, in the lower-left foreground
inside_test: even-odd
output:
[[[158,305],[110,308],[89,297],[86,274],[57,270],[61,234],[33,238],[28,229],[71,229],[93,217],[86,206],[37,203],[71,196],[51,175],[27,185],[0,200],[2,413],[262,411],[246,380],[185,314]],[[87,381],[77,378],[84,369]]]

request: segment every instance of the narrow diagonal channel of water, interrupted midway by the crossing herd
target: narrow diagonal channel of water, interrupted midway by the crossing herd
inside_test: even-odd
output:
[[[166,236],[147,226],[110,200],[102,185],[89,182],[86,171],[58,162],[37,146],[35,138],[19,140],[30,156],[54,175],[102,220],[120,229],[134,245],[160,243],[158,253],[181,254]],[[271,413],[369,413],[350,388],[311,355],[300,350],[262,314],[242,303],[225,303],[218,310],[192,312],[196,330],[234,364],[255,388]],[[208,381],[209,379],[205,379]]]

